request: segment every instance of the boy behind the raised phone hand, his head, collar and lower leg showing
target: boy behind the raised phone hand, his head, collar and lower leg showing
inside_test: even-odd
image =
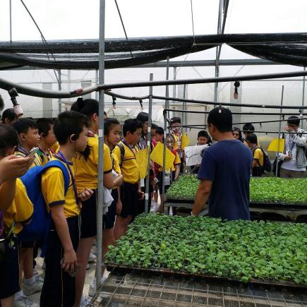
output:
[[[32,148],[37,148],[40,143],[40,135],[38,133],[37,124],[32,119],[18,119],[13,123],[16,129],[19,142],[18,148],[15,150],[15,155],[18,157],[26,157]],[[42,166],[40,157],[35,154],[35,159],[31,167]],[[26,295],[34,294],[42,290],[42,282],[35,278],[33,270],[34,262],[34,246],[35,241],[20,242],[20,280],[24,277],[23,291]],[[23,296],[23,293],[16,294],[15,299]]]

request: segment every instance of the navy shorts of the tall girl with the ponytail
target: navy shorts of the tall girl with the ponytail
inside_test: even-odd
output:
[[[92,190],[92,196],[82,203],[80,238],[90,238],[97,235],[97,190]]]

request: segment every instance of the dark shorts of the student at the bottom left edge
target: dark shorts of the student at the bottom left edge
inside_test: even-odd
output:
[[[18,239],[14,247],[8,248],[7,258],[0,262],[0,299],[6,299],[20,291]]]

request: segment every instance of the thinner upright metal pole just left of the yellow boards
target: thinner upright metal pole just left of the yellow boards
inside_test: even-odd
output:
[[[150,73],[150,81],[153,80],[153,73]],[[152,86],[149,88],[149,101],[148,101],[148,133],[147,133],[147,147],[148,147],[148,164],[147,164],[147,176],[145,186],[145,214],[149,211],[149,185],[150,185],[150,152],[151,152],[151,126],[152,126]]]

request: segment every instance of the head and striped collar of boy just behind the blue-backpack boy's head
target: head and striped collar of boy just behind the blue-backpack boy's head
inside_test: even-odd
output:
[[[50,148],[56,143],[54,121],[52,119],[42,118],[37,119],[36,124],[40,135],[40,150],[37,152],[37,155],[40,157],[42,166],[44,166],[52,159],[53,152]]]

